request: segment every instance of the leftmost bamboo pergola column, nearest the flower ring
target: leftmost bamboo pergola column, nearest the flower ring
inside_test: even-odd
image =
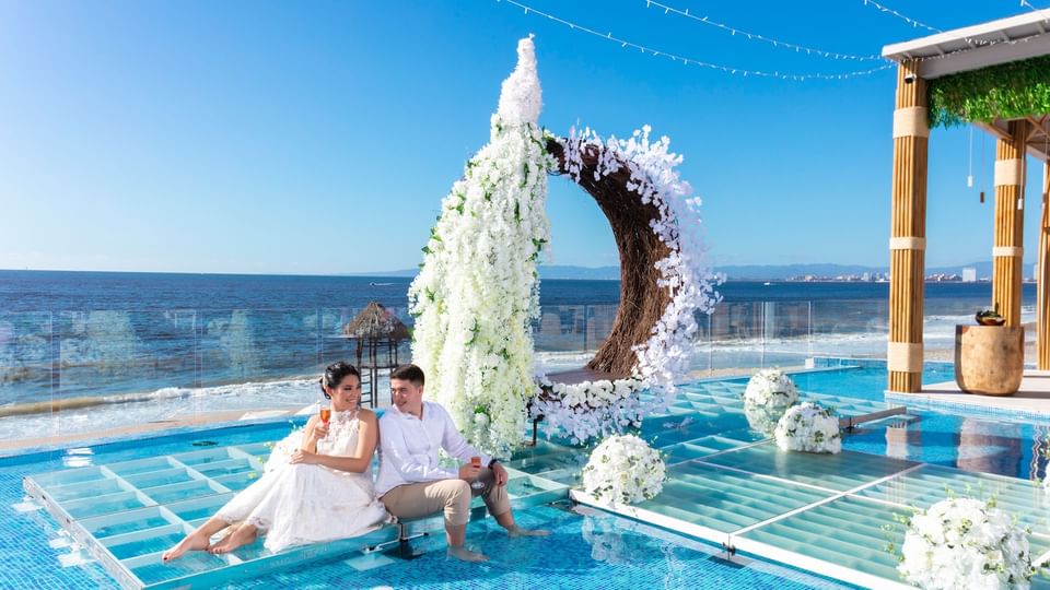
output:
[[[889,390],[922,389],[922,298],[926,250],[926,82],[918,61],[897,68],[889,238]]]

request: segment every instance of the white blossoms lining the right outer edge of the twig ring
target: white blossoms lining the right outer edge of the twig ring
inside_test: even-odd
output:
[[[670,140],[662,137],[650,141],[649,126],[635,130],[630,139],[602,139],[590,128],[578,134],[573,128],[561,143],[565,150],[565,168],[576,181],[583,169],[583,154],[595,151],[598,169],[595,180],[616,173],[621,165],[630,173],[629,190],[639,194],[642,203],[652,203],[658,219],[650,222],[650,228],[667,245],[669,253],[656,262],[661,272],[657,286],[666,288],[670,303],[653,327],[652,335],[634,347],[638,363],[633,375],[623,381],[625,387],[614,384],[618,393],[604,400],[599,406],[587,403],[557,403],[544,399],[533,400],[533,416],[544,415],[544,429],[551,435],[564,429],[574,439],[586,440],[606,434],[609,428],[623,432],[623,426],[637,422],[640,415],[658,412],[670,403],[675,392],[675,379],[689,369],[697,332],[695,314],[714,311],[721,297],[714,291],[721,279],[713,274],[704,262],[707,248],[700,232],[700,199],[692,197],[692,188],[681,180],[675,167],[681,156],[668,151]],[[641,385],[639,385],[641,384]],[[581,398],[592,399],[602,392],[578,392]],[[643,401],[639,391],[648,389],[651,401]],[[557,396],[556,396],[557,399]]]

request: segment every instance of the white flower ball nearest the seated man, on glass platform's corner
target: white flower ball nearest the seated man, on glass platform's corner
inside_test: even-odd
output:
[[[652,499],[663,489],[664,460],[634,435],[610,436],[602,441],[583,468],[583,488],[602,505]]]

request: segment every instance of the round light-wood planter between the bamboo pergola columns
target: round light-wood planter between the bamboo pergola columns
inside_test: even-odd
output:
[[[1025,371],[1025,329],[956,326],[955,382],[967,393],[1012,396]]]

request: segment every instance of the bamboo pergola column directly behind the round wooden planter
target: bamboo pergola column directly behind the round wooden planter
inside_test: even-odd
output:
[[[1024,256],[1026,120],[1010,121],[1010,139],[995,144],[995,239],[992,243],[992,304],[1006,326],[1020,326],[1020,262]]]

